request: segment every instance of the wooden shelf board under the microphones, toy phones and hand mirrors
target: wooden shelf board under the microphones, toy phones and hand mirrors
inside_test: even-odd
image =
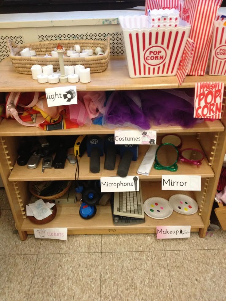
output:
[[[183,136],[182,149],[192,147],[201,150],[201,146],[195,136]],[[157,141],[158,142],[158,141]],[[139,146],[139,155],[137,161],[132,161],[128,172],[128,176],[137,175],[138,167],[140,166],[143,157],[149,148],[148,145]],[[88,170],[90,158],[85,153],[81,158],[79,158],[79,179],[99,179],[100,177],[110,177],[117,176],[117,167],[119,165],[119,155],[116,158],[115,170],[106,170],[104,166],[104,157],[100,158],[100,172],[92,173]],[[193,164],[179,162],[177,163],[178,170],[173,172],[174,175],[201,175],[201,177],[213,178],[214,172],[212,168],[208,165],[208,160],[203,159],[201,166],[196,166]],[[66,161],[64,169],[46,169],[44,173],[41,172],[41,163],[36,169],[29,169],[27,166],[19,166],[17,163],[14,165],[13,170],[10,173],[9,181],[47,181],[51,180],[74,180],[76,165],[70,164]],[[140,179],[161,179],[162,175],[172,175],[170,171],[156,170],[154,167],[151,168],[149,176],[139,175]]]

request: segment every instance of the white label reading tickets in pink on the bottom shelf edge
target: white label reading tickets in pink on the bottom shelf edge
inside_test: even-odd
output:
[[[67,240],[67,228],[34,229],[34,237]]]

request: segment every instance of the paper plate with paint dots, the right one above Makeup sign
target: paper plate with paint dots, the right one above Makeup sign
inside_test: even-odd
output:
[[[169,203],[174,211],[181,214],[194,214],[199,209],[196,201],[188,195],[172,195]]]

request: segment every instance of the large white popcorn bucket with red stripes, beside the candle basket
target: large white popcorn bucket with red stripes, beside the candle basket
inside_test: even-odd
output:
[[[180,20],[177,27],[128,29],[124,28],[124,18],[127,17],[119,17],[119,22],[123,29],[129,76],[176,75],[191,26]]]

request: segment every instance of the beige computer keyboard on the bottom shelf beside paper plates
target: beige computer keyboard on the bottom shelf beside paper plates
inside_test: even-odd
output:
[[[140,191],[114,192],[113,214],[144,218],[143,200]]]

